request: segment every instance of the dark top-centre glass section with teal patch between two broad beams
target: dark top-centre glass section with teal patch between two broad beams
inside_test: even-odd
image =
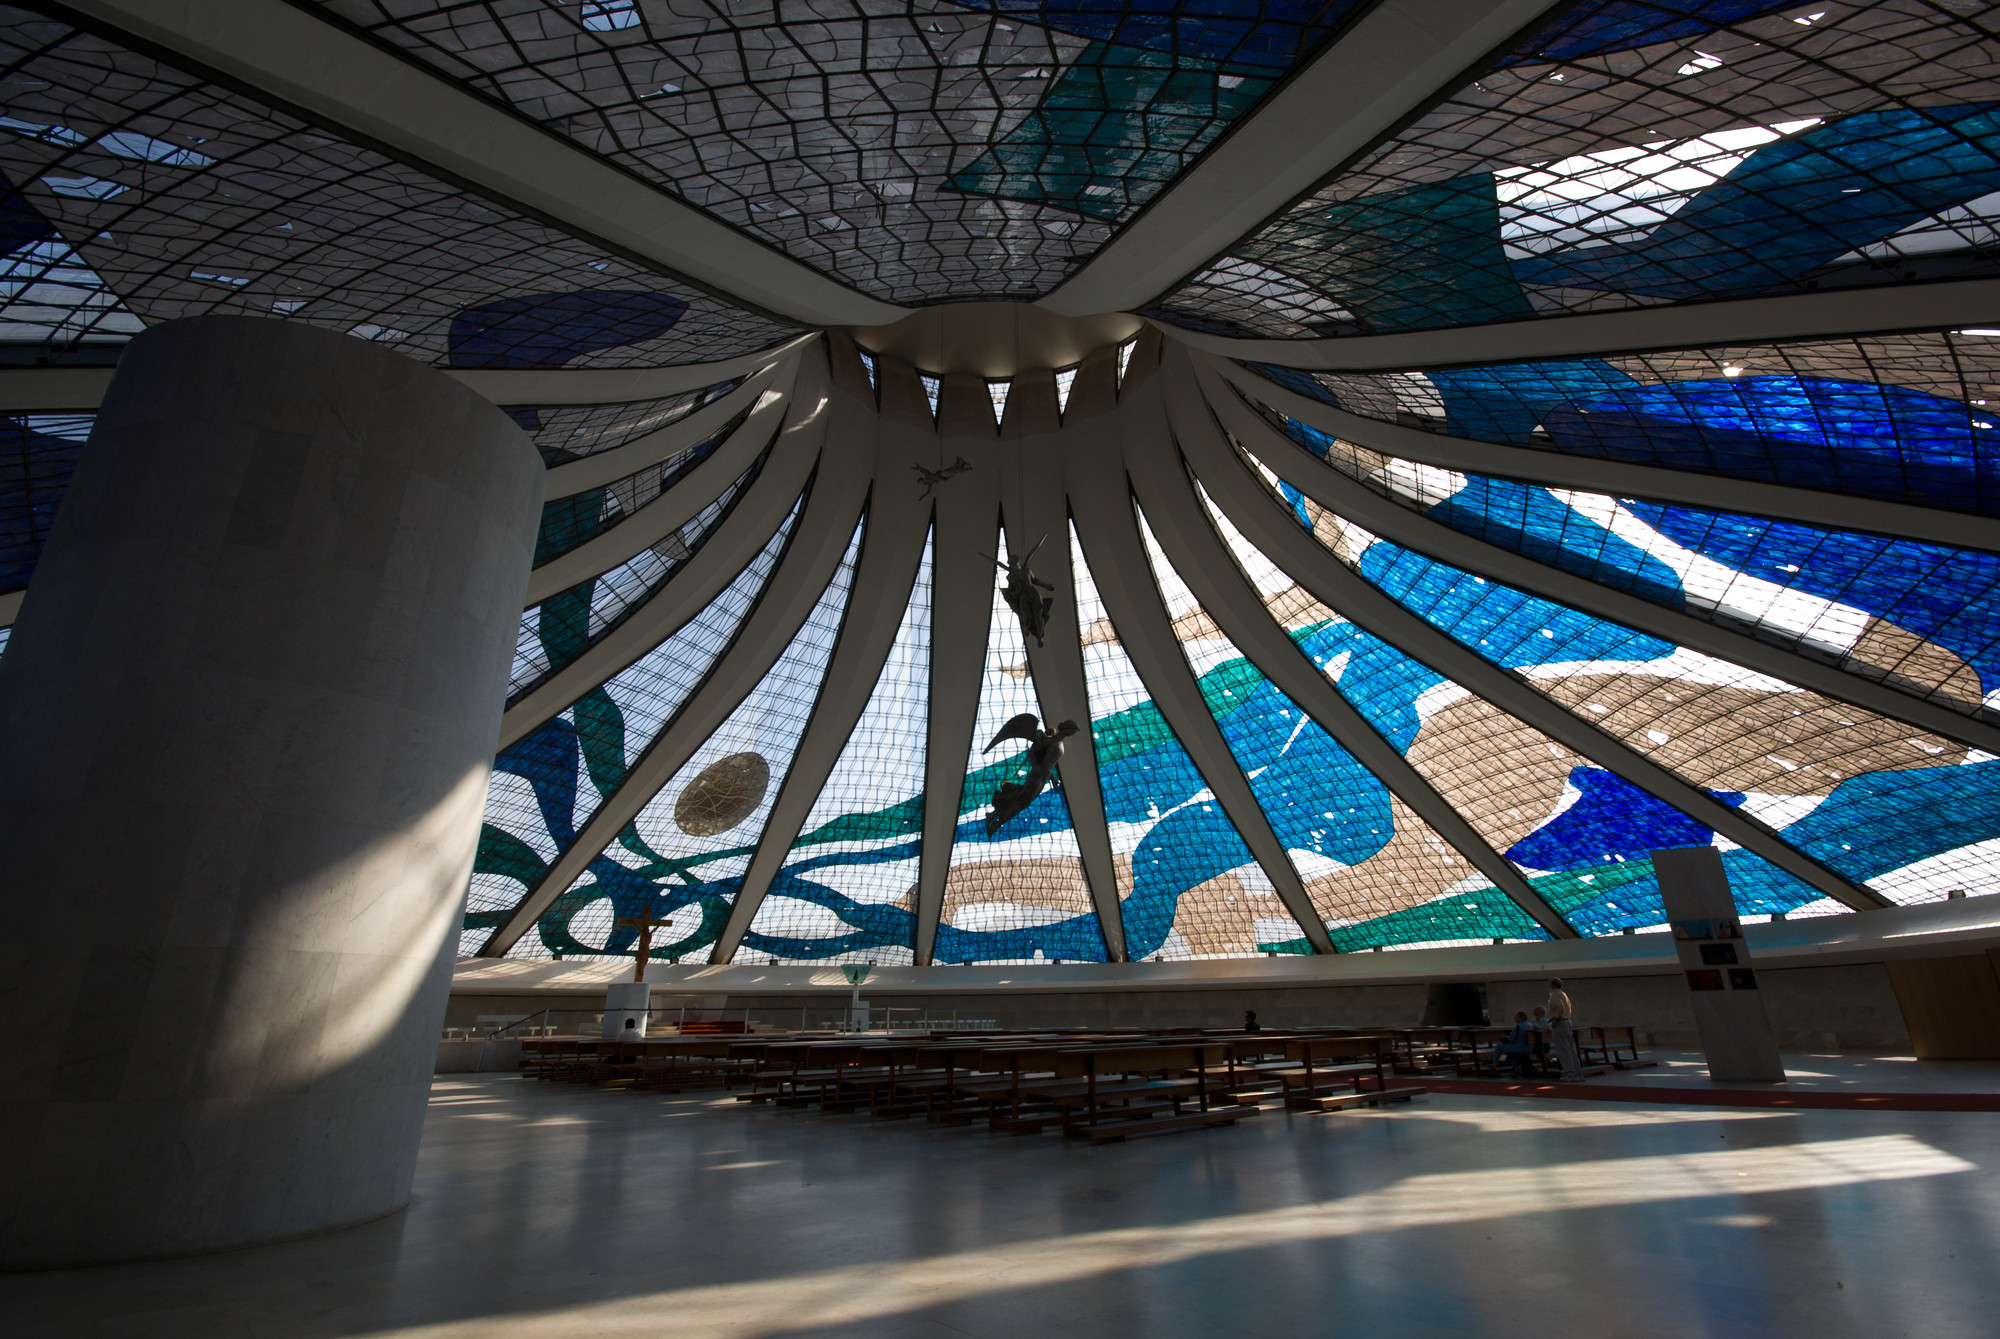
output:
[[[1362,8],[322,6],[892,302],[1054,288]]]

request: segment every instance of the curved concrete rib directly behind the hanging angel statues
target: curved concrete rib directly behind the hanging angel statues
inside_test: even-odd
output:
[[[1090,685],[1084,677],[1082,630],[1076,626],[1076,574],[1070,564],[1070,506],[1064,460],[1070,432],[1094,432],[1118,410],[1118,350],[1102,348],[1084,358],[1070,384],[1068,412],[1056,406],[1056,376],[1040,370],[1014,378],[1006,402],[1014,468],[1000,482],[1000,516],[1010,554],[1036,544],[1034,574],[1050,582],[1056,602],[1048,612],[1042,646],[1028,642],[1028,668],[1042,701],[1042,723],[1076,721],[1080,729],[1062,747],[1062,801],[1070,807],[1084,883],[1104,931],[1104,951],[1126,961],[1124,911],[1118,903],[1118,861],[1104,819],[1104,779],[1090,731]],[[1048,536],[1044,542],[1042,536]]]

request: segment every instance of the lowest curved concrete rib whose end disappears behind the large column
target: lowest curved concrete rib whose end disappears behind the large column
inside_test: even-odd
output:
[[[814,378],[814,388],[818,388],[818,378]],[[672,638],[750,566],[784,518],[798,506],[800,494],[820,462],[826,414],[802,412],[816,398],[818,390],[792,402],[794,422],[780,432],[778,446],[772,448],[764,470],[750,482],[728,520],[694,552],[694,558],[646,604],[606,632],[596,646],[556,670],[534,691],[508,707],[500,723],[502,749]]]

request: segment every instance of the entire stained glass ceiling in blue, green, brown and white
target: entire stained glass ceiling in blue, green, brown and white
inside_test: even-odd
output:
[[[1746,915],[2000,891],[2000,308],[1866,304],[2000,276],[1996,6],[1520,4],[1170,270],[1134,220],[1334,136],[1274,100],[1424,0],[242,6],[642,190],[650,234],[370,130],[276,42],[222,68],[200,12],[88,8],[0,8],[0,364],[302,320],[512,378],[550,466],[466,953],[626,953],[636,915],[760,963],[1592,937],[1660,925],[1670,845]],[[690,278],[688,206],[754,260]],[[1152,326],[1002,358],[1018,322],[954,308],[1040,320],[1092,266]],[[774,314],[800,278],[944,310],[860,348]],[[1812,338],[1728,316],[1842,296]],[[1508,342],[1664,308],[1714,316]],[[1484,352],[1344,352],[1424,332]],[[684,372],[592,404],[558,368]],[[0,652],[90,430],[30,400]],[[1078,731],[994,823],[1020,713]]]

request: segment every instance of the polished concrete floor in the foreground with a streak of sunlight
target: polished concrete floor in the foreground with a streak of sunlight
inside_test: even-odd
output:
[[[1078,1147],[464,1075],[406,1213],[0,1277],[0,1333],[1952,1339],[2000,1331],[1996,1247],[1980,1113],[1432,1095]]]

